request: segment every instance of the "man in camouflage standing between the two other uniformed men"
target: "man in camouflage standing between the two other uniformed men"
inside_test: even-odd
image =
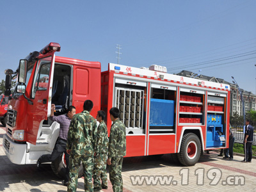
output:
[[[104,122],[106,114],[98,111],[96,119],[100,123],[97,130],[97,145],[94,153],[93,191],[108,189],[108,175],[106,171],[108,158],[108,128]],[[102,184],[100,184],[100,178]]]

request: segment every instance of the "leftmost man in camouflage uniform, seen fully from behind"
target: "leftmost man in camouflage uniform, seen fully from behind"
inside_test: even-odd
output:
[[[92,100],[84,101],[84,111],[74,115],[70,123],[67,139],[67,153],[70,154],[68,192],[76,191],[81,163],[84,169],[84,191],[93,191],[93,154],[97,140],[97,122],[90,115],[92,108]]]

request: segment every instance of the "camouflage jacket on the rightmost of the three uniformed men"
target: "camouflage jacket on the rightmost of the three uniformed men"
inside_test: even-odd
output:
[[[123,157],[126,155],[125,125],[115,120],[111,125],[108,145],[108,157]]]

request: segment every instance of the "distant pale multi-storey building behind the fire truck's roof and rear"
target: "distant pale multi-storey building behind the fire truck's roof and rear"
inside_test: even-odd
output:
[[[229,83],[225,81],[224,79],[216,78],[216,77],[209,77],[209,76],[204,76],[204,75],[197,75],[193,72],[190,72],[188,70],[182,70],[177,74],[179,76],[184,76],[184,77],[195,77],[195,79],[202,79],[204,81],[212,81],[216,83],[225,83],[230,85],[230,115],[234,115],[234,113],[238,113],[238,115],[243,116],[243,102],[240,97],[240,93],[238,88],[236,87],[236,84],[234,83]],[[243,89],[241,89],[241,92],[243,93],[243,98],[244,98],[244,108],[245,108],[245,113],[247,111],[250,111],[251,109],[253,111],[256,110],[256,95],[253,94],[252,92],[247,92]]]

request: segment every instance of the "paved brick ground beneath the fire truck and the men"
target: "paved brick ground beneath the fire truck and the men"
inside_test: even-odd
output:
[[[10,163],[2,147],[3,134],[0,127],[0,191],[67,191],[49,164],[36,168],[35,164]],[[241,156],[228,161],[217,155],[214,151],[204,154],[191,167],[173,163],[170,155],[125,158],[124,191],[256,191],[256,159],[241,163]],[[78,181],[77,191],[84,191],[83,178]],[[110,182],[108,186],[109,189],[102,191],[112,191]]]

